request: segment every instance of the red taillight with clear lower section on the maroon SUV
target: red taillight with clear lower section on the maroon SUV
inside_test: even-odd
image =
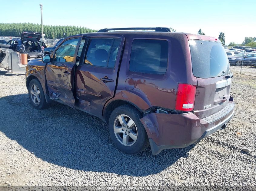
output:
[[[194,109],[195,93],[195,85],[178,84],[175,110],[192,111]]]

